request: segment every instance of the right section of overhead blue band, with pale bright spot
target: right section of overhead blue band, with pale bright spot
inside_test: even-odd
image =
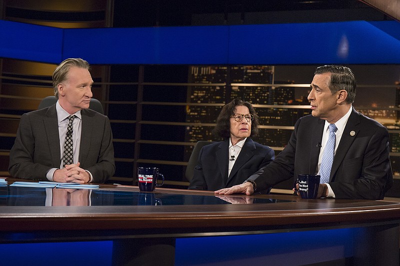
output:
[[[366,21],[230,26],[230,64],[387,64],[400,62],[398,22]]]

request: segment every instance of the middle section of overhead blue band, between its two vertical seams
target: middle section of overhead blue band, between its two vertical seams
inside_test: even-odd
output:
[[[91,64],[227,62],[226,26],[65,29],[63,57]]]

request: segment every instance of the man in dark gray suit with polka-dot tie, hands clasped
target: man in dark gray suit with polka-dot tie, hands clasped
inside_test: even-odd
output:
[[[104,183],[114,174],[109,120],[88,109],[93,84],[89,69],[89,64],[80,58],[68,58],[56,67],[53,87],[58,101],[21,116],[10,151],[11,176]]]

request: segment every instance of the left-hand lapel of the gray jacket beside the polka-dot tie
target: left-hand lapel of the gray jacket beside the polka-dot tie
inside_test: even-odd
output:
[[[61,152],[59,149],[58,119],[55,104],[48,108],[46,117],[43,118],[43,124],[46,131],[52,165],[55,168],[59,168],[61,165]]]

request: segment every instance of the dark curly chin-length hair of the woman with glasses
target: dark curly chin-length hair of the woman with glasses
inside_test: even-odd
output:
[[[235,114],[237,106],[247,107],[249,113],[254,116],[253,121],[251,121],[250,136],[258,136],[259,117],[255,113],[253,106],[249,102],[234,99],[222,107],[222,110],[216,119],[216,125],[212,130],[212,134],[215,137],[223,139],[228,139],[230,137],[230,116]]]

